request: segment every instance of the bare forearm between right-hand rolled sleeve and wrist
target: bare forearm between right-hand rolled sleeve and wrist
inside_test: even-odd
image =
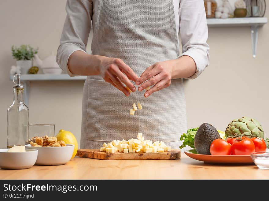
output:
[[[196,72],[196,64],[189,56],[184,55],[170,61],[172,65],[172,79],[188,78]]]

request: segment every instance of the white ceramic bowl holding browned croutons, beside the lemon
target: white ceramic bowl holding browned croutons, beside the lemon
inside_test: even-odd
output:
[[[38,150],[35,165],[42,166],[63,165],[70,161],[74,151],[73,144],[66,144],[66,147],[32,147],[27,144],[25,148]]]

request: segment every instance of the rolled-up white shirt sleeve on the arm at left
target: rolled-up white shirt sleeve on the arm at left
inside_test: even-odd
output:
[[[77,76],[70,72],[67,63],[70,55],[77,51],[86,52],[86,46],[91,28],[93,3],[90,0],[68,0],[66,3],[66,18],[61,35],[60,46],[57,50],[56,61],[68,75]]]

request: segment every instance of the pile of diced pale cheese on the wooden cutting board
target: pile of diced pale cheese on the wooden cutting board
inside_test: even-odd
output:
[[[137,134],[137,139],[131,140],[113,140],[110,143],[104,143],[103,147],[100,148],[100,151],[105,151],[107,153],[156,153],[171,151],[171,147],[168,147],[164,144],[163,141],[152,142],[152,140],[144,140],[142,133]]]

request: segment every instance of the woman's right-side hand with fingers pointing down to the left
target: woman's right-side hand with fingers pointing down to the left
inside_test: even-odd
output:
[[[142,73],[140,78],[135,81],[136,85],[143,83],[138,87],[138,91],[142,91],[147,87],[154,85],[145,92],[144,96],[148,97],[152,93],[170,86],[172,79],[173,65],[174,65],[173,60],[170,60],[170,61],[157,62],[149,66]]]

